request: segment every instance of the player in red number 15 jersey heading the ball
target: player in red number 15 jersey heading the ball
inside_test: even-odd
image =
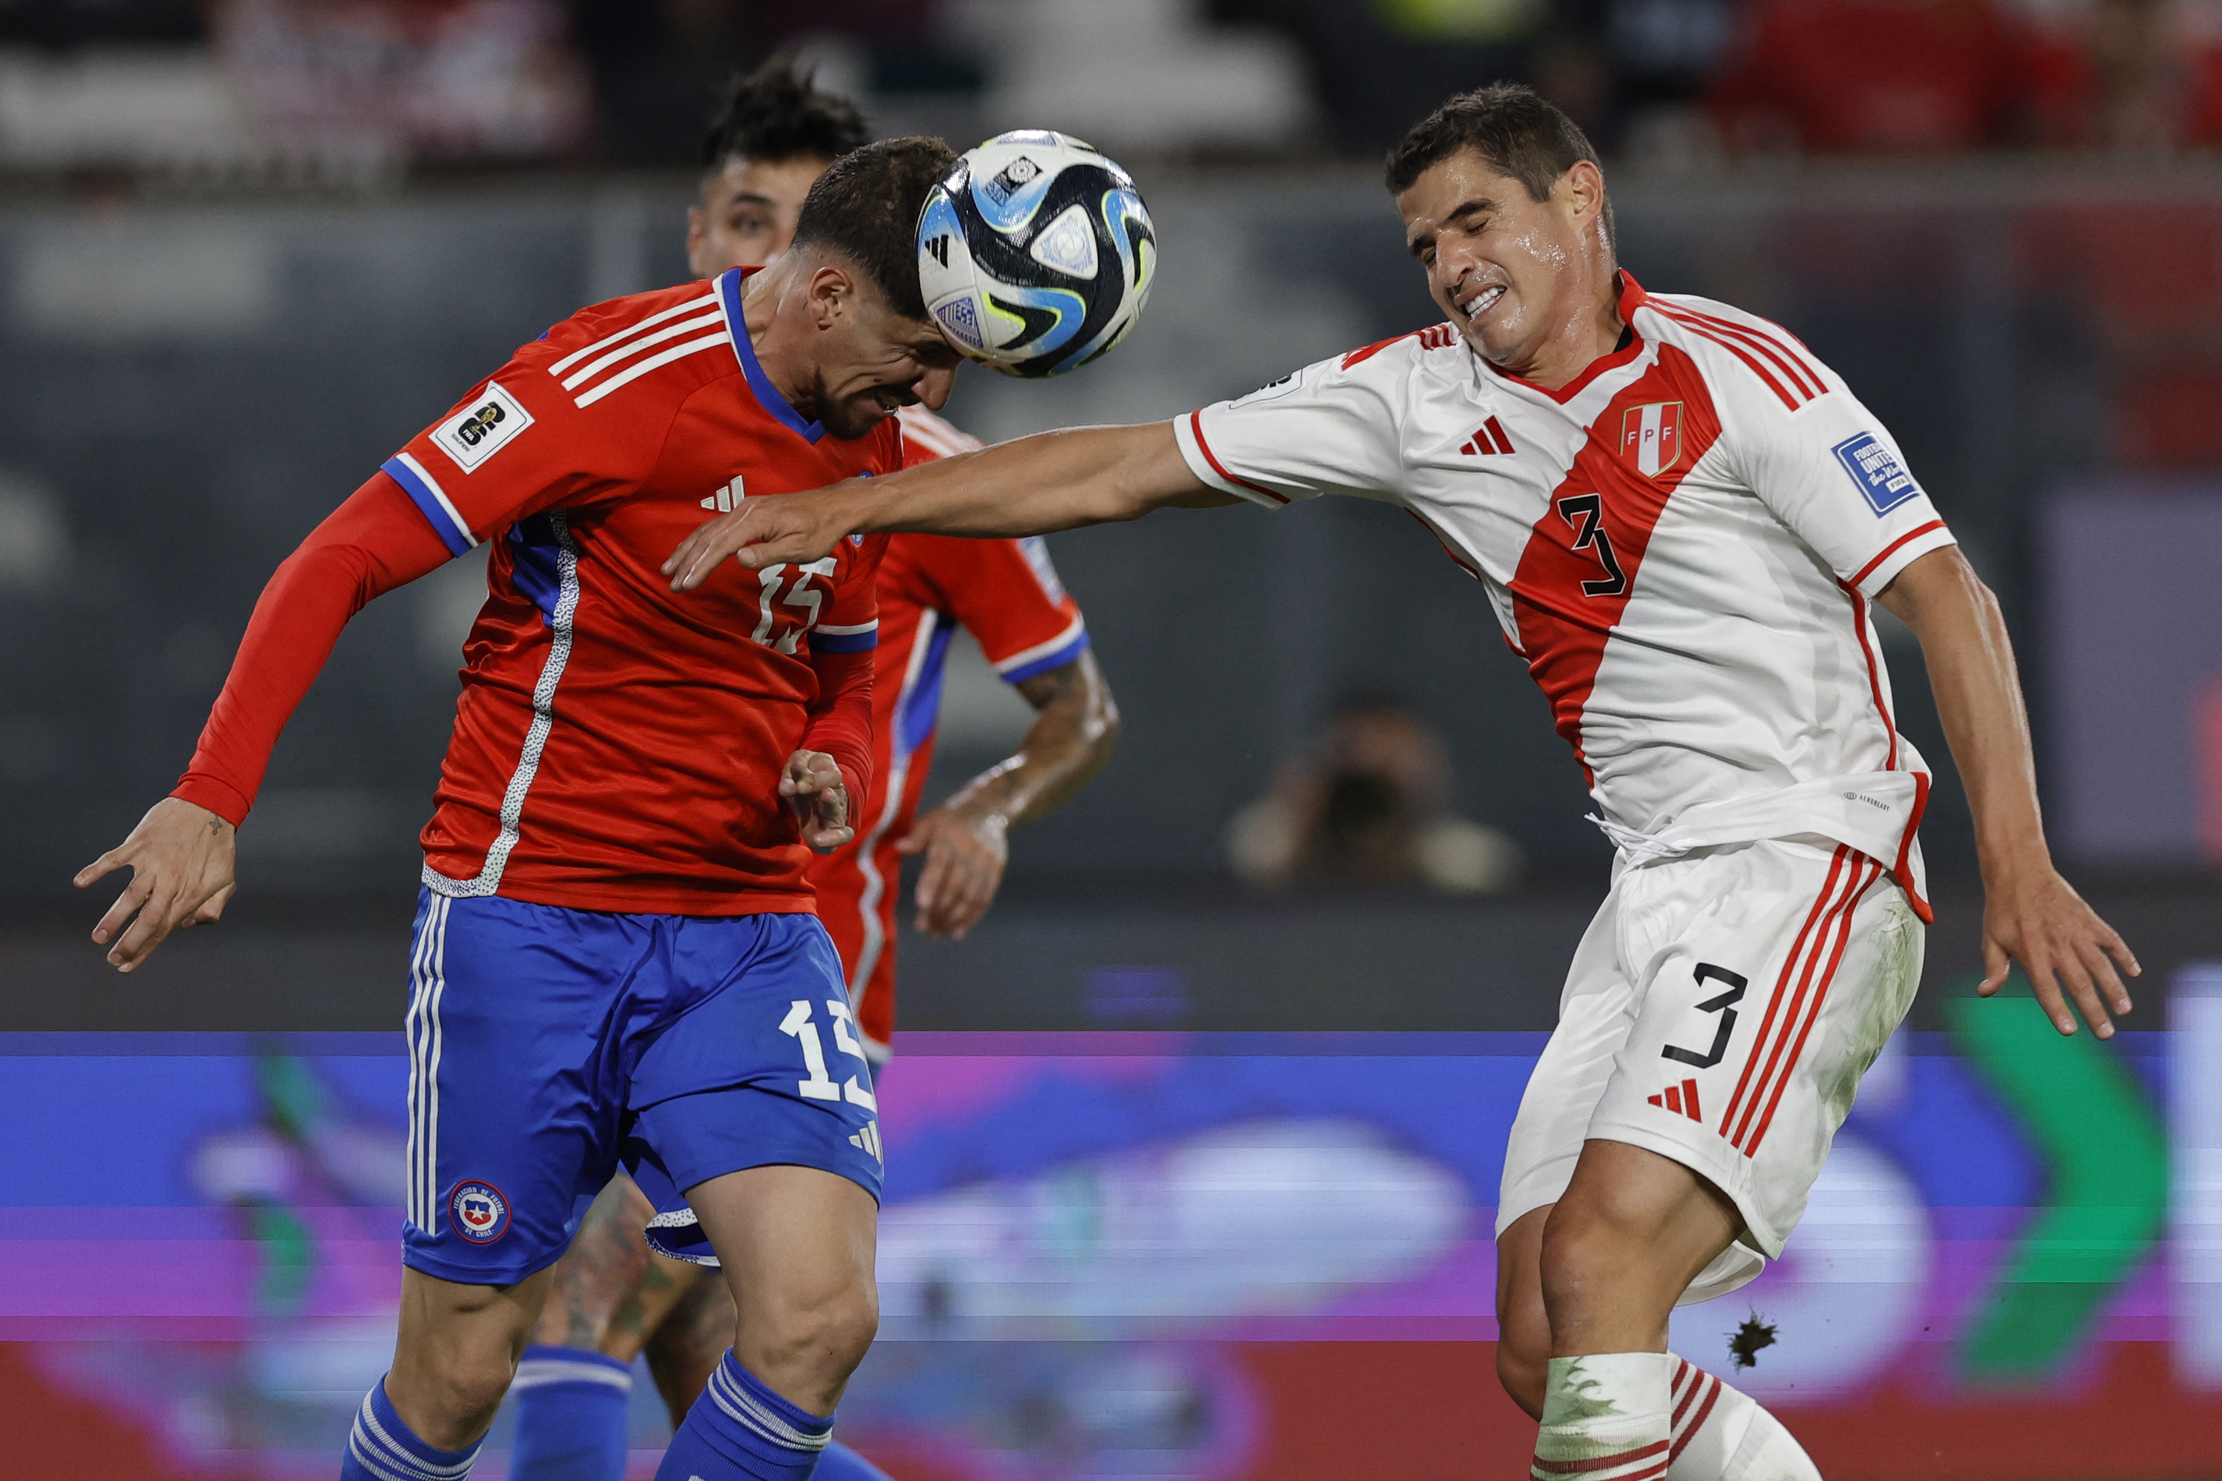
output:
[[[178,790],[78,875],[133,970],[231,895],[233,828],[349,615],[489,542],[424,826],[407,1032],[400,1337],[347,1481],[458,1481],[551,1266],[622,1161],[698,1219],[740,1310],[658,1474],[807,1477],[878,1323],[880,1139],[811,850],[871,795],[882,540],[718,573],[655,566],[704,508],[902,464],[898,406],[958,357],[915,222],[953,153],[860,149],[795,246],[595,304],[524,344],[280,566]]]

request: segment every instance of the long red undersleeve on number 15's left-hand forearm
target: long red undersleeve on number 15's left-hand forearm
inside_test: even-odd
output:
[[[278,733],[331,657],[347,619],[371,597],[447,562],[447,544],[402,486],[384,473],[371,475],[262,588],[224,693],[171,797],[204,806],[233,826],[244,822]]]

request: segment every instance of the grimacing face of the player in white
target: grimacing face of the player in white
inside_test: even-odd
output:
[[[1535,200],[1473,149],[1398,195],[1404,240],[1435,304],[1493,364],[1522,373],[1582,315],[1584,222],[1567,180]]]

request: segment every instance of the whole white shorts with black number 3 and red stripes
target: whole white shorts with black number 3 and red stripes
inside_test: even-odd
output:
[[[1753,1279],[1913,1004],[1922,941],[1889,870],[1826,839],[1622,866],[1520,1099],[1498,1235],[1567,1192],[1584,1141],[1627,1141],[1704,1175],[1744,1217],[1682,1301]]]

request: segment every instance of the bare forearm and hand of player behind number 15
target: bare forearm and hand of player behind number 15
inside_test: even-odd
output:
[[[1004,835],[1049,817],[1089,784],[1118,744],[1118,704],[1095,653],[1022,679],[1033,724],[1018,753],[955,790],[895,844],[927,855],[918,873],[918,928],[962,939],[1002,888],[1011,859]]]

